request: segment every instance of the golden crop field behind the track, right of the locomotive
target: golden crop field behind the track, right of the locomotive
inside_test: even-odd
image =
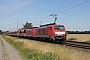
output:
[[[67,40],[90,43],[90,34],[67,34]]]

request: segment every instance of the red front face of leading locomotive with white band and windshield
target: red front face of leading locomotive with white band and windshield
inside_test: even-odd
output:
[[[54,38],[59,41],[66,40],[66,30],[64,25],[54,25]]]

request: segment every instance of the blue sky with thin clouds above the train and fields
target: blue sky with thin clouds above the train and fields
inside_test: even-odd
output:
[[[57,24],[66,30],[90,30],[90,0],[0,0],[0,29],[14,31],[26,22],[53,23],[51,14],[57,14]]]

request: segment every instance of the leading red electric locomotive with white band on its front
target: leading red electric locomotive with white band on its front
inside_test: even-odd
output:
[[[37,29],[37,38],[65,41],[66,30],[64,25],[57,25],[56,23],[41,25],[40,28]]]

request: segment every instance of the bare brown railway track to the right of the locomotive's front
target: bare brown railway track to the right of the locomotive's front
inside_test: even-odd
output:
[[[66,41],[64,45],[83,49],[90,49],[90,43],[85,42]]]

